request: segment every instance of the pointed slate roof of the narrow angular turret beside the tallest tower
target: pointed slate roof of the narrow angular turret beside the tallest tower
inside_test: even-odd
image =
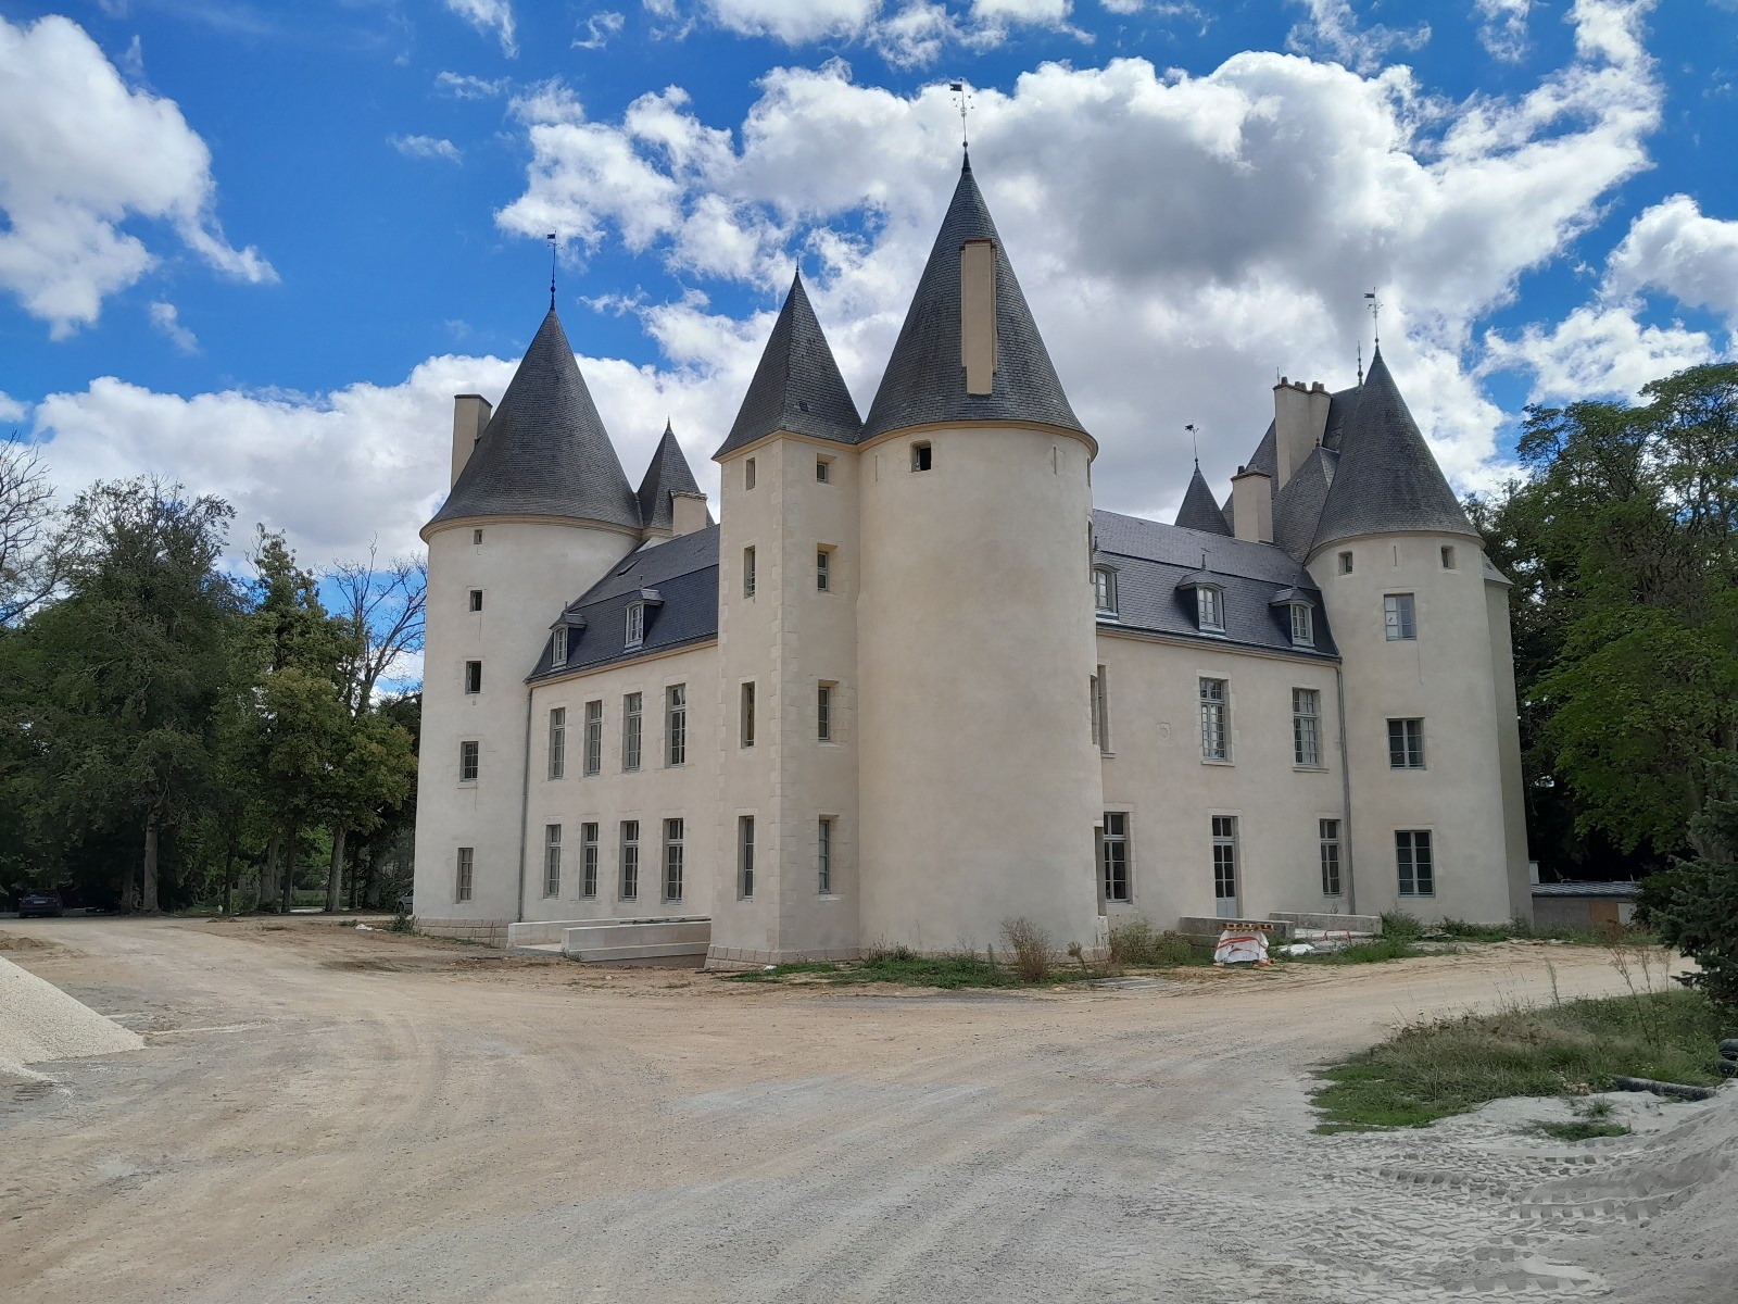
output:
[[[862,417],[852,391],[845,388],[839,363],[833,360],[827,337],[815,320],[815,309],[803,289],[803,273],[791,280],[784,308],[766,337],[754,379],[742,398],[742,409],[730,435],[713,457],[723,457],[775,429],[812,435],[817,440],[855,443]]]

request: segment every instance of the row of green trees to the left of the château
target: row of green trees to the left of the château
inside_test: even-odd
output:
[[[408,888],[426,570],[315,574],[235,509],[155,478],[57,509],[0,443],[0,899],[116,909],[391,904]],[[325,593],[325,598],[322,596]]]

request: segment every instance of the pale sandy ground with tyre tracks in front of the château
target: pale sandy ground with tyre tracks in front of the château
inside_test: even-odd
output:
[[[1667,1247],[1712,1160],[1580,1200],[1655,1142],[1528,1135],[1564,1116],[1549,1101],[1310,1134],[1312,1064],[1420,1014],[1549,1000],[1552,974],[1622,989],[1592,949],[968,995],[313,920],[0,932],[146,1035],[0,1085],[9,1302],[1738,1297],[1668,1288],[1733,1280]],[[1660,1139],[1738,1135],[1728,1101],[1625,1109]]]

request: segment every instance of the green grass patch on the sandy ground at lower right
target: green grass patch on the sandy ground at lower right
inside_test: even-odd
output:
[[[1608,1090],[1613,1074],[1714,1085],[1721,1035],[1721,1014],[1695,991],[1408,1024],[1321,1073],[1317,1130],[1425,1127],[1510,1095]]]

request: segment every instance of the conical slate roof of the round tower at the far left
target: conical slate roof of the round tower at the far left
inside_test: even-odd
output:
[[[554,308],[429,525],[530,515],[640,529],[640,502]]]

